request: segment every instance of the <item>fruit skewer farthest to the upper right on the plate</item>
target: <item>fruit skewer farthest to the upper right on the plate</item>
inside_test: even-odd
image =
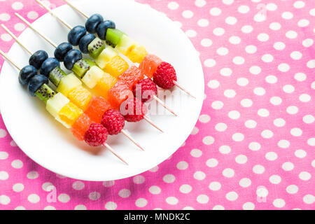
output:
[[[41,3],[39,0],[36,1]],[[136,45],[136,43],[129,36],[127,36],[127,34],[124,34],[122,31],[116,29],[114,22],[110,20],[104,21],[102,15],[99,14],[94,14],[89,17],[87,14],[83,13],[82,10],[79,10],[76,6],[70,3],[69,0],[64,1],[71,8],[73,8],[73,10],[76,10],[87,19],[87,22],[92,25],[90,32],[97,32],[97,34],[99,34],[99,38],[102,38],[106,42],[112,43],[113,47],[116,48],[118,52],[128,57],[132,62],[139,63],[139,69],[144,68],[143,71],[146,72],[146,76],[153,78],[153,81],[158,86],[162,87],[163,89],[170,89],[176,85],[179,87],[179,89],[183,90],[183,92],[186,92],[186,94],[196,98],[177,82],[176,71],[171,64],[162,62],[162,59],[155,55],[148,55],[146,48],[141,45]],[[44,6],[43,3],[41,3],[41,6],[47,10],[50,10],[50,8]],[[50,13],[52,13],[51,10]],[[52,14],[56,16],[54,13]],[[121,48],[121,46],[123,46],[123,48]]]

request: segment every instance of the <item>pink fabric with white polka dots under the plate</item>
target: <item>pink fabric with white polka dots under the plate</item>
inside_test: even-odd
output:
[[[0,209],[314,209],[314,1],[139,2],[200,52],[204,106],[186,144],[144,174],[93,183],[36,165],[0,120]],[[15,11],[30,22],[45,13],[35,1],[0,4],[17,35]]]

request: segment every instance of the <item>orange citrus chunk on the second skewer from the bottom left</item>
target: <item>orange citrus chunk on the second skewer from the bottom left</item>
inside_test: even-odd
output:
[[[109,109],[111,109],[111,104],[109,104],[106,99],[98,96],[92,97],[85,114],[89,116],[94,123],[101,123],[104,113]]]

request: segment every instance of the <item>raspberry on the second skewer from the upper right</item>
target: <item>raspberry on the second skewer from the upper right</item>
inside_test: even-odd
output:
[[[153,96],[158,94],[158,87],[151,78],[145,78],[139,80],[139,82],[132,87],[132,92],[134,96],[141,99],[142,102],[148,102]]]

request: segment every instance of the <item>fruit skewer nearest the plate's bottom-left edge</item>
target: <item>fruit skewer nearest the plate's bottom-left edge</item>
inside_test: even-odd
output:
[[[46,110],[55,118],[55,120],[59,121],[59,123],[65,127],[68,127],[65,125],[65,123],[66,120],[69,119],[69,117],[66,116],[66,112],[69,111],[69,109],[71,112],[74,111],[73,113],[77,114],[74,120],[78,120],[79,116],[84,116],[83,111],[80,110],[76,105],[69,102],[69,99],[67,99],[62,93],[56,93],[54,90],[52,90],[48,85],[48,78],[38,74],[34,66],[27,65],[21,69],[20,66],[15,64],[15,62],[13,62],[13,60],[10,59],[10,57],[8,57],[8,55],[6,55],[6,53],[4,53],[2,50],[0,50],[0,54],[20,71],[20,84],[27,85],[29,94],[32,97],[37,97],[42,102],[44,102],[46,105]],[[54,102],[59,102],[59,105],[55,105],[59,107],[58,110],[56,110],[56,107],[52,106]],[[90,122],[90,125],[87,127],[85,132],[85,142],[90,146],[105,146],[107,149],[109,149],[109,151],[111,151],[111,153],[113,153],[113,155],[128,165],[127,162],[125,162],[125,160],[123,160],[123,158],[121,158],[120,155],[118,155],[113,150],[113,148],[111,148],[111,146],[106,143],[106,140],[106,128],[102,125]]]

